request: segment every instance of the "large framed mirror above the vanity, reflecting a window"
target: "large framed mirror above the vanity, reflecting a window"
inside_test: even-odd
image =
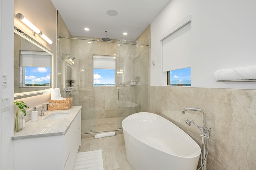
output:
[[[14,99],[50,92],[53,53],[14,27]]]

